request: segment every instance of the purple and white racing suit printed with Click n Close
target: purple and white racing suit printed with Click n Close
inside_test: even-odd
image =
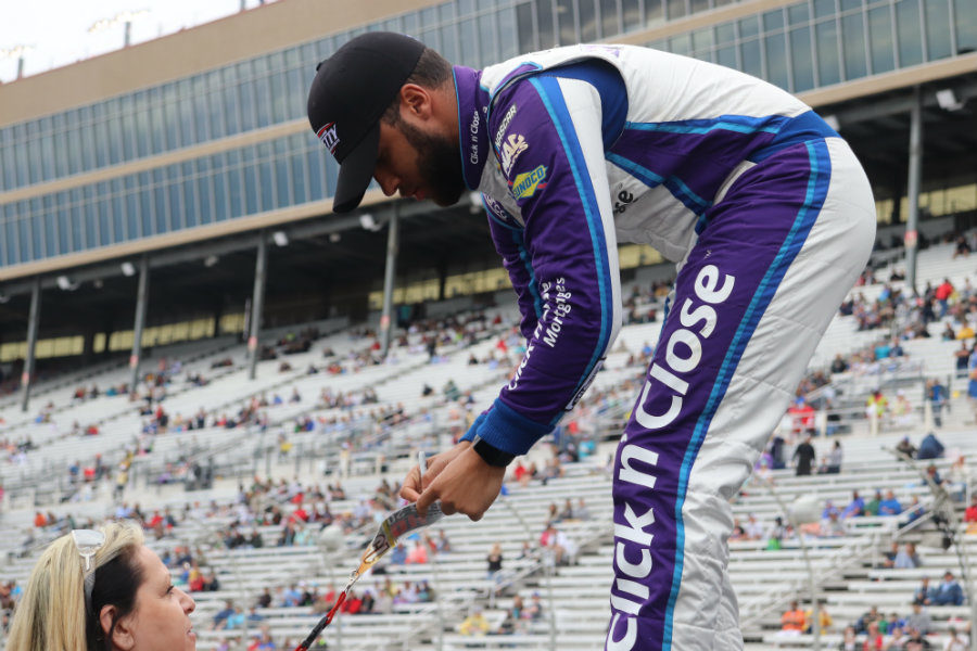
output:
[[[586,391],[621,326],[618,242],[677,263],[618,447],[606,648],[741,649],[728,501],[868,259],[861,166],[781,89],[644,48],[456,66],[455,86],[526,337],[466,438],[524,454]]]

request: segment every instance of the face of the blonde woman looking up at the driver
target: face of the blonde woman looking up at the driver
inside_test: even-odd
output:
[[[136,562],[144,579],[136,591],[136,609],[127,617],[125,628],[130,631],[127,640],[131,647],[126,651],[194,651],[196,634],[190,613],[196,603],[174,587],[169,570],[152,549],[141,547]]]

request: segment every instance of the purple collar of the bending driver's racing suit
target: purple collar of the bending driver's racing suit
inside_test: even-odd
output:
[[[461,148],[461,176],[469,190],[479,188],[482,168],[488,156],[488,91],[480,85],[482,71],[464,65],[453,68],[458,98],[458,141]]]

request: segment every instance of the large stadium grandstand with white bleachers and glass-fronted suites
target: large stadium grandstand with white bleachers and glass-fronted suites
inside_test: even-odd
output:
[[[0,85],[0,641],[10,582],[23,585],[46,544],[136,518],[175,583],[216,579],[192,591],[200,649],[254,636],[294,647],[399,503],[393,486],[417,452],[465,432],[519,362],[518,308],[477,196],[439,208],[373,187],[357,213],[331,213],[337,169],[308,132],[308,80],[380,28],[472,66],[571,42],[648,44],[761,76],[828,116],[872,180],[877,250],[798,390],[811,411],[785,413],[733,501],[746,647],[815,648],[813,630],[785,633],[781,620],[791,601],[811,609],[812,589],[830,615],[825,649],[847,626],[861,643],[873,608],[908,616],[924,576],[966,583],[973,2],[384,0],[329,2],[329,20],[322,4],[262,3]],[[648,247],[619,253],[625,326],[589,393],[482,521],[447,518],[363,578],[370,612],[341,613],[330,648],[601,648],[609,460],[674,276]],[[931,399],[934,382],[946,399]],[[930,432],[946,447],[932,471],[892,452]],[[840,442],[839,472],[796,475],[808,433],[815,468]],[[902,510],[833,520],[828,502],[843,510],[855,490],[891,490]],[[791,521],[812,505],[821,518]],[[495,542],[503,570],[490,574]],[[916,566],[893,566],[906,544]],[[401,558],[411,552],[427,560]],[[215,626],[229,600],[250,616]],[[926,610],[935,648],[973,624],[969,598]],[[462,633],[475,612],[486,635]]]

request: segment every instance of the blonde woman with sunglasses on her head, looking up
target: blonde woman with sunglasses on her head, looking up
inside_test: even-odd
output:
[[[7,651],[193,651],[195,605],[138,526],[75,529],[34,566]]]

